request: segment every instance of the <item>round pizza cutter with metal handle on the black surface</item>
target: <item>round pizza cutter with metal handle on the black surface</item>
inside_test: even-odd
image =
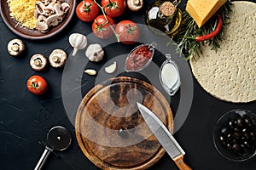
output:
[[[44,162],[47,160],[49,153],[54,150],[66,150],[71,144],[71,134],[67,131],[67,128],[56,126],[49,129],[47,133],[47,143],[43,155],[40,157],[37,166],[34,170],[40,170]]]

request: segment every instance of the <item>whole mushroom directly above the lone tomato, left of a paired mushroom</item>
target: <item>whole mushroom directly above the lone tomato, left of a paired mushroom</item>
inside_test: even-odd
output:
[[[35,71],[42,71],[47,64],[47,59],[42,54],[34,54],[30,59],[30,65]]]

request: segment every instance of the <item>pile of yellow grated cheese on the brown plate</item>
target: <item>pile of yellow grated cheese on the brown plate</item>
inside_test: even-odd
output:
[[[37,0],[7,0],[10,16],[29,29],[36,28],[37,19],[34,17]]]

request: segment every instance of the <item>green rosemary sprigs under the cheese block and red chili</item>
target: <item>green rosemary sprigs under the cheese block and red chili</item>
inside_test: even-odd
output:
[[[205,42],[195,42],[195,38],[192,37],[206,35],[214,31],[218,22],[216,17],[213,16],[204,26],[199,28],[196,25],[195,20],[193,20],[193,18],[186,11],[184,11],[183,23],[180,27],[180,31],[175,37],[172,38],[174,42],[177,43],[177,53],[180,55],[184,54],[185,59],[191,59],[195,54],[198,55],[198,57],[200,54],[202,54],[201,46],[205,44],[210,45],[212,50],[218,50],[220,47],[219,42],[222,41],[223,38],[224,27],[229,24],[229,14],[232,5],[233,4],[230,2],[230,0],[228,0],[224,6],[218,10],[218,13],[221,14],[223,19],[221,31],[219,31],[216,37],[212,37]]]

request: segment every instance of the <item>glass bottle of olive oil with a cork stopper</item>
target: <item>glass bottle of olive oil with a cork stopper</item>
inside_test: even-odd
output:
[[[146,25],[156,33],[174,36],[182,22],[182,12],[177,8],[178,3],[180,1],[154,1],[146,10]]]

